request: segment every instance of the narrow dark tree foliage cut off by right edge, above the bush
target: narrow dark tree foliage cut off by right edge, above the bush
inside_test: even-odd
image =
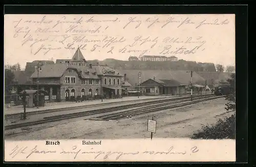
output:
[[[227,106],[225,109],[227,112],[233,112],[236,110],[236,74],[231,73],[229,76],[230,78],[227,81],[230,84],[230,94],[226,97],[228,102],[225,104]]]

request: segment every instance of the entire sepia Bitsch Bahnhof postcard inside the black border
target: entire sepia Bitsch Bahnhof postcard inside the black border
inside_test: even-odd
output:
[[[234,18],[6,14],[6,158],[234,161]]]

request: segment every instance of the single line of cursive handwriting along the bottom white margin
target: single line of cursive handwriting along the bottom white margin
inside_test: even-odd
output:
[[[92,148],[93,149],[93,148]],[[91,149],[91,150],[92,150]],[[28,147],[19,147],[15,146],[9,153],[11,158],[15,158],[17,155],[24,155],[25,159],[28,159],[32,155],[50,155],[51,154],[59,154],[59,155],[73,155],[73,158],[76,159],[78,155],[82,154],[93,154],[94,159],[108,159],[108,158],[115,158],[118,160],[121,156],[125,155],[168,155],[168,154],[192,154],[197,153],[199,151],[197,146],[192,147],[189,151],[175,151],[174,146],[170,146],[168,149],[164,151],[134,151],[134,152],[121,152],[121,151],[82,151],[77,146],[73,146],[71,150],[63,150],[56,151],[56,150],[39,150],[37,146],[34,146],[33,149],[29,149]],[[112,157],[111,157],[112,156]]]

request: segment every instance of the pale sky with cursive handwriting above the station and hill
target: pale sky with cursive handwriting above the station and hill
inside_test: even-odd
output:
[[[5,15],[5,64],[71,59],[78,46],[86,60],[174,55],[234,65],[234,15]]]

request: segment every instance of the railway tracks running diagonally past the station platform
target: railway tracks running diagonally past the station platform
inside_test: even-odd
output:
[[[216,97],[215,95],[206,95],[206,96],[198,95],[198,96],[194,96],[194,100],[200,99],[200,98],[205,98],[205,97],[220,98],[221,96]],[[186,97],[179,97],[179,98],[172,98],[172,99],[148,101],[148,102],[142,102],[142,103],[137,103],[137,104],[128,104],[128,105],[116,106],[116,107],[110,107],[110,108],[95,109],[95,110],[90,110],[87,112],[79,112],[79,113],[71,113],[71,114],[65,114],[65,115],[44,117],[44,119],[42,119],[42,120],[7,125],[7,126],[5,126],[5,130],[28,127],[28,126],[38,125],[38,124],[44,124],[44,123],[49,123],[49,122],[55,122],[55,121],[60,121],[60,120],[66,120],[66,119],[72,119],[72,118],[78,118],[78,117],[84,117],[84,116],[90,116],[90,115],[96,115],[96,114],[102,114],[102,113],[107,113],[107,112],[114,112],[117,110],[127,109],[127,108],[131,108],[131,107],[134,108],[134,107],[142,106],[141,109],[143,109],[143,108],[145,108],[145,106],[149,107],[148,105],[150,105],[153,109],[153,108],[156,108],[157,105],[159,106],[159,104],[161,104],[161,106],[165,106],[165,105],[169,105],[170,103],[172,103],[172,104],[177,103],[177,101],[179,101],[179,102],[189,101],[190,98],[191,97],[186,96]],[[192,102],[195,103],[195,101],[192,101]],[[159,108],[159,107],[157,107],[157,108]]]

